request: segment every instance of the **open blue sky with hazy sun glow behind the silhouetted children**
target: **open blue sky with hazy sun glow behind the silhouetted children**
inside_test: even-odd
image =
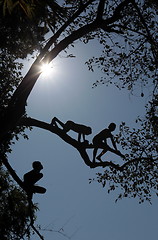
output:
[[[56,70],[50,77],[41,76],[32,91],[28,115],[46,122],[56,116],[63,122],[73,120],[91,126],[89,141],[110,122],[119,125],[125,121],[134,126],[135,117],[144,113],[147,96],[130,97],[125,90],[104,85],[92,89],[100,72],[88,72],[84,61],[95,50],[92,45],[78,45],[76,58],[66,59],[61,54],[54,61]],[[118,128],[114,134],[117,132]],[[31,169],[33,161],[39,160],[44,166],[39,185],[46,187],[47,192],[36,194],[33,201],[40,208],[37,224],[53,230],[41,231],[45,240],[66,239],[55,232],[60,228],[72,240],[157,239],[157,199],[153,199],[152,205],[139,205],[137,199],[115,203],[116,192],[109,195],[98,183],[88,183],[101,168],[90,169],[78,152],[56,135],[34,128],[29,136],[29,141],[21,139],[13,147],[10,162],[21,178]],[[121,161],[112,153],[105,158]],[[34,235],[33,239],[38,237]]]

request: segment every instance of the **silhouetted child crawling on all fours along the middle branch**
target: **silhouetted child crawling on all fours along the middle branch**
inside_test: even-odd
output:
[[[81,142],[81,136],[83,138],[84,142],[88,142],[85,139],[85,135],[89,135],[92,133],[92,129],[90,127],[87,127],[82,124],[74,123],[73,121],[67,121],[66,123],[61,122],[58,118],[54,117],[52,119],[51,124],[54,126],[57,126],[56,123],[59,123],[63,130],[67,133],[70,130],[73,130],[74,132],[78,133],[78,141]]]

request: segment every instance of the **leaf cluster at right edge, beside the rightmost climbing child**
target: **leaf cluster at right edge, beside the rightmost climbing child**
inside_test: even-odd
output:
[[[122,171],[109,167],[103,173],[97,173],[96,180],[103,187],[106,186],[108,193],[115,189],[121,190],[117,200],[137,197],[139,203],[142,203],[144,200],[151,202],[155,194],[158,196],[157,103],[155,96],[147,107],[146,118],[136,120],[140,128],[131,130],[125,122],[120,125],[116,140],[126,152]]]

